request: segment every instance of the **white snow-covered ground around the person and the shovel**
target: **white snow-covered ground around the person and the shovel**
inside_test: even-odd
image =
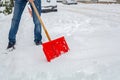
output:
[[[52,39],[64,36],[70,47],[50,63],[42,46],[34,45],[34,25],[27,8],[16,49],[3,54],[11,18],[0,14],[0,80],[120,80],[119,4],[58,4],[58,12],[42,14]]]

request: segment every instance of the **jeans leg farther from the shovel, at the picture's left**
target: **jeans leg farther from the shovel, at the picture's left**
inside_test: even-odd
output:
[[[8,37],[9,42],[16,43],[16,34],[18,31],[21,15],[23,13],[26,3],[26,0],[15,0],[14,13]]]

